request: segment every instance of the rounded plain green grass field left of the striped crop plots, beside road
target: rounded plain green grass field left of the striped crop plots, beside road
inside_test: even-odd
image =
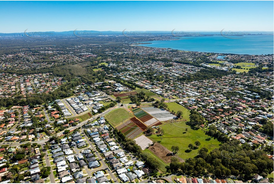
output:
[[[118,126],[119,124],[126,122],[127,119],[134,117],[133,114],[127,112],[123,108],[114,109],[110,111],[105,118],[114,126]]]

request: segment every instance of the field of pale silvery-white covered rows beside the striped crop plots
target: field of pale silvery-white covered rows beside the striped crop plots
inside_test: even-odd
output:
[[[142,107],[142,109],[159,121],[167,121],[176,117],[170,112],[163,109],[158,109],[156,107]]]

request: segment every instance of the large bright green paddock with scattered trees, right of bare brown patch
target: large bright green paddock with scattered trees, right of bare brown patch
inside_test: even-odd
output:
[[[192,130],[190,126],[186,125],[185,122],[174,122],[169,123],[161,126],[161,128],[165,131],[164,135],[162,136],[162,144],[167,149],[171,151],[171,146],[179,146],[179,152],[177,155],[186,160],[188,158],[193,158],[198,155],[198,151],[202,147],[206,147],[209,152],[212,151],[215,148],[219,147],[220,142],[217,141],[217,139],[211,139],[209,141],[206,141],[206,138],[210,138],[209,136],[205,135],[205,132],[203,130]],[[185,129],[187,130],[187,133],[185,132]],[[158,137],[156,134],[153,134],[150,136],[152,141],[161,141],[161,138]],[[188,148],[189,144],[194,144],[195,141],[200,141],[201,146],[199,146],[198,149],[194,149],[191,152],[185,152]]]

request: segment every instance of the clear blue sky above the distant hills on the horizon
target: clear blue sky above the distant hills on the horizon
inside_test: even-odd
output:
[[[0,32],[273,31],[273,1],[0,1]]]

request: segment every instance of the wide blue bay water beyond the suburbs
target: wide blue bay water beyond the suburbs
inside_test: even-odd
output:
[[[138,46],[220,54],[273,54],[273,35],[194,36],[181,37],[179,40],[155,40],[142,43],[151,44]]]

